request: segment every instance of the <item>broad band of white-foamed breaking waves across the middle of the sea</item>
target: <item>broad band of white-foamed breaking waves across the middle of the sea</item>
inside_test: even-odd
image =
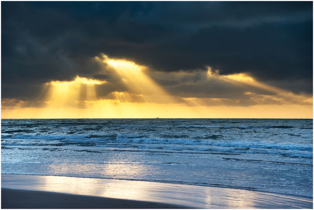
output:
[[[8,135],[4,139],[33,141],[6,141],[3,146],[95,146],[115,148],[139,148],[158,150],[191,150],[208,152],[230,152],[248,154],[273,154],[290,157],[312,158],[313,147],[304,144],[270,144],[268,142],[248,141],[219,141],[219,135],[210,135],[208,139],[181,139],[181,138],[151,138],[145,135],[117,134],[117,135]],[[51,142],[52,141],[52,142]]]

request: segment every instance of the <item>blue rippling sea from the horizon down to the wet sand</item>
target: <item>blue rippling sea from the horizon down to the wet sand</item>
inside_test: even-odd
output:
[[[313,120],[2,119],[1,170],[313,197]]]

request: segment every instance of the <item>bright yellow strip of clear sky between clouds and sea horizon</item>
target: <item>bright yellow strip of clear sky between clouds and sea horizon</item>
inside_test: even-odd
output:
[[[182,104],[130,103],[115,100],[93,101],[93,108],[14,108],[1,118],[308,118],[312,105],[195,106]],[[293,112],[292,110],[297,110]],[[182,113],[184,115],[182,116]],[[14,117],[12,117],[14,116]],[[19,117],[18,117],[19,116]]]

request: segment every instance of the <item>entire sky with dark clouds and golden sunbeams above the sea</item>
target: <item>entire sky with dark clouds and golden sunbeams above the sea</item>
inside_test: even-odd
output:
[[[312,118],[312,2],[1,2],[1,118]]]

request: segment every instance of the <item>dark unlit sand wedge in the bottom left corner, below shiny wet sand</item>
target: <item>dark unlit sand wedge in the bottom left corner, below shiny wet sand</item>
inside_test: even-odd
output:
[[[44,192],[33,190],[20,190],[1,187],[1,208],[2,209],[147,209],[147,208],[187,208],[179,205],[172,205],[157,202],[134,201],[116,198],[74,195],[58,192]]]

